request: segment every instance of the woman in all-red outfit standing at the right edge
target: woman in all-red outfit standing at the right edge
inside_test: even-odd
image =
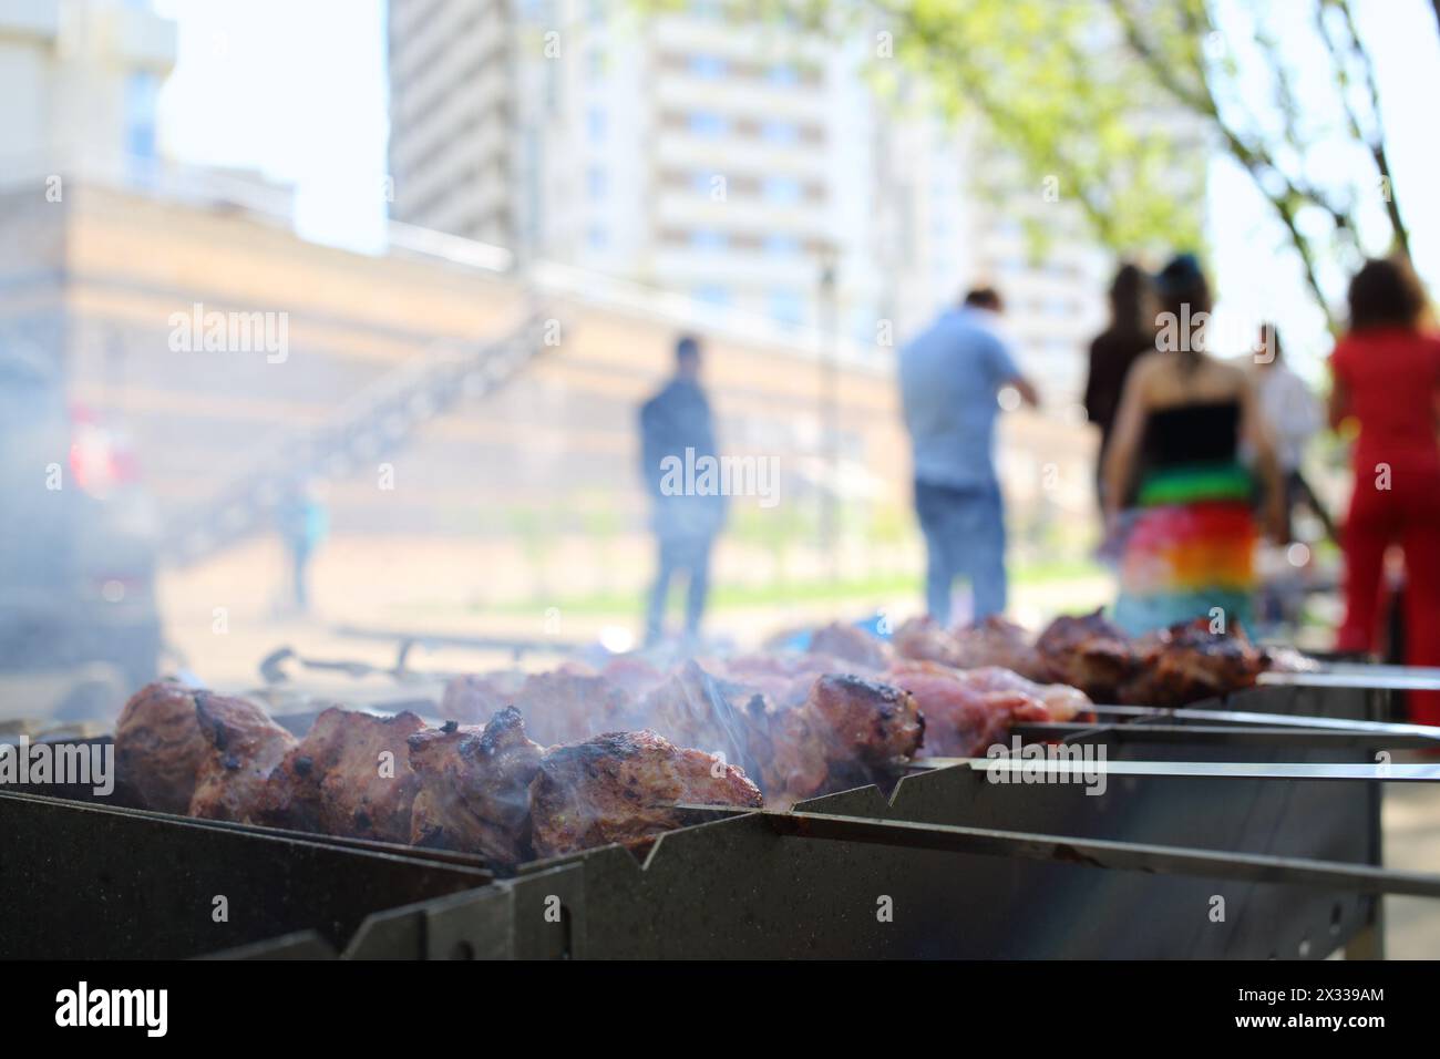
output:
[[[1345,624],[1338,648],[1378,640],[1385,552],[1405,556],[1411,666],[1440,666],[1440,339],[1403,261],[1367,261],[1349,287],[1349,333],[1335,347],[1331,425],[1354,416],[1355,491],[1345,524]],[[1414,720],[1440,725],[1440,693],[1411,693]]]

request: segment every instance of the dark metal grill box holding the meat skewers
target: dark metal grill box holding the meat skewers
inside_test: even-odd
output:
[[[696,807],[644,862],[616,846],[497,877],[477,857],[7,791],[9,957],[685,958],[1380,954],[1375,765],[1394,673],[1099,710],[1022,741],[1104,749],[1104,797],[917,762],[791,813]],[[289,718],[304,729],[310,718]],[[226,918],[215,916],[216,898]]]

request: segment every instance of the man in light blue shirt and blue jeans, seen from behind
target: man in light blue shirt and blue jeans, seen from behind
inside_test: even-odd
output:
[[[995,474],[998,395],[1031,386],[995,330],[999,295],[981,287],[900,350],[900,398],[914,457],[914,509],[927,556],[930,615],[950,621],[950,589],[965,575],[973,620],[1005,612],[1005,509]]]

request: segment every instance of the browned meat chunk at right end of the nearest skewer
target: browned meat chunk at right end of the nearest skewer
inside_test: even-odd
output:
[[[541,857],[618,841],[642,847],[683,824],[678,804],[759,808],[760,791],[713,754],[655,732],[609,732],[540,759],[530,785],[533,843]]]

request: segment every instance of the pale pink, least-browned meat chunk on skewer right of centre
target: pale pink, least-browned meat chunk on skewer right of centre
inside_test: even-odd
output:
[[[1090,702],[1064,684],[1035,684],[992,666],[955,670],[933,661],[899,661],[886,679],[914,696],[924,713],[924,749],[972,758],[1005,739],[1020,720],[1070,720]]]

